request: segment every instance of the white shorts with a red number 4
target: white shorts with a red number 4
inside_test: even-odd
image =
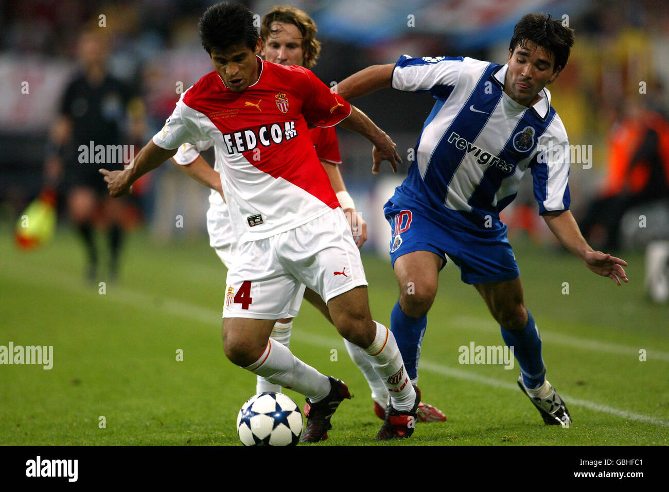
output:
[[[304,285],[327,303],[367,285],[360,252],[341,208],[276,236],[237,246],[227,271],[224,318],[296,317]]]

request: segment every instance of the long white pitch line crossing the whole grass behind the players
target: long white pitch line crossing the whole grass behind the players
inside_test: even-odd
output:
[[[2,271],[3,274],[9,273],[9,269],[5,268]],[[62,287],[70,291],[76,291],[81,293],[86,291],[84,286],[82,286],[82,280],[80,278],[74,278],[65,272],[57,272],[55,275],[48,277],[35,276],[27,277],[25,275],[25,270],[18,274],[18,272],[12,272],[15,278],[19,280],[26,281],[28,278],[39,279],[40,283],[49,282],[56,286]],[[97,292],[96,286],[91,286],[91,291],[93,295]],[[190,303],[185,303],[183,301],[177,301],[176,299],[169,299],[162,296],[152,296],[143,291],[135,291],[134,289],[128,289],[126,287],[119,286],[110,286],[110,300],[118,300],[124,304],[134,305],[135,307],[151,308],[156,309],[157,311],[165,312],[195,319],[201,321],[205,324],[216,324],[220,326],[219,320],[221,320],[221,311],[216,311],[214,309],[208,309],[205,307],[197,306]],[[155,300],[159,299],[161,301],[160,305],[155,305]],[[470,318],[472,320],[474,318]],[[457,320],[457,318],[456,318]],[[462,321],[462,319],[460,320]],[[478,320],[477,320],[478,323]],[[561,335],[562,336],[562,335]],[[308,336],[299,336],[298,343],[306,343],[308,345],[316,345],[323,348],[334,348],[335,346],[343,347],[343,341],[341,338],[335,338],[326,335],[318,335],[316,333],[308,333]],[[626,352],[627,353],[627,352]],[[473,374],[472,372],[467,372],[460,369],[455,369],[453,367],[448,367],[446,365],[433,363],[425,359],[420,361],[421,370],[427,370],[429,372],[435,372],[441,374],[442,376],[448,376],[449,378],[456,378],[460,380],[470,380],[479,384],[484,384],[486,386],[492,386],[494,388],[504,388],[505,390],[518,391],[518,386],[516,384],[496,380],[494,378],[487,378],[486,376],[480,376],[478,374]],[[657,417],[639,414],[636,412],[630,412],[628,410],[620,410],[619,408],[614,408],[607,405],[598,404],[591,402],[589,400],[581,400],[579,398],[571,398],[566,394],[562,395],[565,400],[567,400],[571,405],[582,406],[588,408],[589,410],[594,410],[595,412],[603,412],[617,417],[624,418],[626,420],[634,420],[636,422],[647,422],[649,424],[655,424],[659,426],[669,427],[669,421],[662,420]]]

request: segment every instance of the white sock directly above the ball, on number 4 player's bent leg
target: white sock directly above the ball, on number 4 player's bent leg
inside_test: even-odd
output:
[[[270,383],[295,390],[313,403],[320,402],[330,392],[327,376],[306,365],[287,347],[271,338],[258,360],[244,369],[266,378]]]

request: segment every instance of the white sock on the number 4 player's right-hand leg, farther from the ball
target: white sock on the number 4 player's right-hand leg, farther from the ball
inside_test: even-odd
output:
[[[411,410],[415,402],[415,390],[407,376],[395,337],[385,326],[376,321],[374,323],[377,328],[376,337],[362,351],[391,395],[393,408],[403,412]]]

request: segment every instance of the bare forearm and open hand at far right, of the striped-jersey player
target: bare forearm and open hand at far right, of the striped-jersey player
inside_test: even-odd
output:
[[[593,250],[583,238],[569,210],[547,212],[543,214],[543,218],[562,245],[581,258],[587,268],[598,275],[611,278],[617,285],[620,285],[620,280],[629,281],[623,269],[623,266],[627,266],[627,262],[610,254]]]

